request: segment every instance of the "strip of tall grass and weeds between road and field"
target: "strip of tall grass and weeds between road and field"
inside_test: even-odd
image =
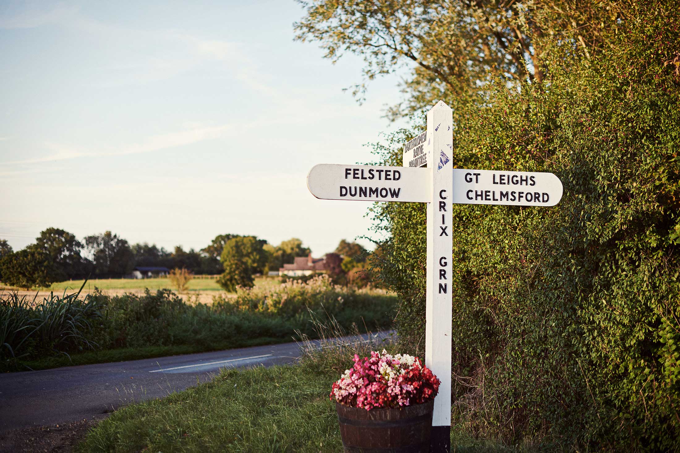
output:
[[[231,300],[217,298],[211,306],[186,304],[169,289],[113,296],[95,291],[85,297],[80,291],[52,293],[42,302],[8,293],[0,295],[0,369],[69,365],[65,360],[72,352],[85,350],[128,350],[136,359],[142,349],[148,350],[146,357],[157,357],[173,347],[200,352],[292,341],[296,332],[318,336],[314,320],[328,316],[343,328],[355,319],[363,331],[390,328],[395,302],[323,281],[241,292]],[[61,362],[50,358],[58,355],[65,355]],[[84,363],[98,360],[91,355]],[[118,353],[101,360],[107,357],[120,360]]]

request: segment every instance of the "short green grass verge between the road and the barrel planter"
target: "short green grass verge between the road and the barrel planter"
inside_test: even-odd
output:
[[[332,372],[301,366],[223,370],[212,382],[129,405],[80,452],[338,452]]]

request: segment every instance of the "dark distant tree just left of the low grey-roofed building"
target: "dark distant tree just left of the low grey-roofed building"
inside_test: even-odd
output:
[[[85,238],[85,247],[92,255],[97,276],[124,276],[135,267],[128,242],[110,231]]]

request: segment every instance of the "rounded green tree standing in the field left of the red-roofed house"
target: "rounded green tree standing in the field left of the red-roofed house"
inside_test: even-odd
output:
[[[237,286],[254,286],[253,275],[262,272],[267,266],[266,240],[255,236],[238,236],[224,244],[222,265],[224,274],[218,284],[227,291],[235,291]]]

